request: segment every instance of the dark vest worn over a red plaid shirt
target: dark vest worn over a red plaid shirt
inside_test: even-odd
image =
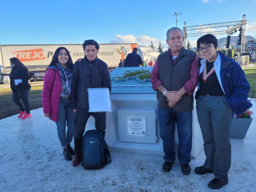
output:
[[[159,79],[168,91],[180,90],[184,83],[190,78],[190,65],[196,53],[182,47],[180,54],[173,65],[172,57],[168,51],[158,56]],[[157,90],[158,108],[169,108],[166,97]],[[174,106],[176,111],[193,110],[193,94],[185,94]]]

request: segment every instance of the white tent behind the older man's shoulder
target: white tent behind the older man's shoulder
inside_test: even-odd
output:
[[[150,59],[155,63],[158,55],[160,54],[159,51],[152,49],[151,47],[146,46],[138,46],[138,54],[142,57],[142,60],[145,60],[146,64],[148,65]]]

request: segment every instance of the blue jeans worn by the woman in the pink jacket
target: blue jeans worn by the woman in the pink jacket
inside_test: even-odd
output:
[[[70,99],[60,98],[57,117],[58,137],[62,147],[71,143],[74,137],[75,113],[71,107]],[[66,125],[68,130],[66,132]]]

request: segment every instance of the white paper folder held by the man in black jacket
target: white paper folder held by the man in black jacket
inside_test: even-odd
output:
[[[108,88],[89,88],[89,112],[112,111],[110,92]]]

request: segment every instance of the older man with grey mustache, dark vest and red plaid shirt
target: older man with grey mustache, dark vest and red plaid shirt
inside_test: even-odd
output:
[[[160,136],[165,153],[162,170],[169,172],[175,161],[174,131],[177,123],[178,160],[182,173],[189,175],[193,92],[198,82],[198,56],[183,47],[184,39],[178,27],[167,31],[169,50],[158,56],[151,73],[151,82],[157,91]]]

